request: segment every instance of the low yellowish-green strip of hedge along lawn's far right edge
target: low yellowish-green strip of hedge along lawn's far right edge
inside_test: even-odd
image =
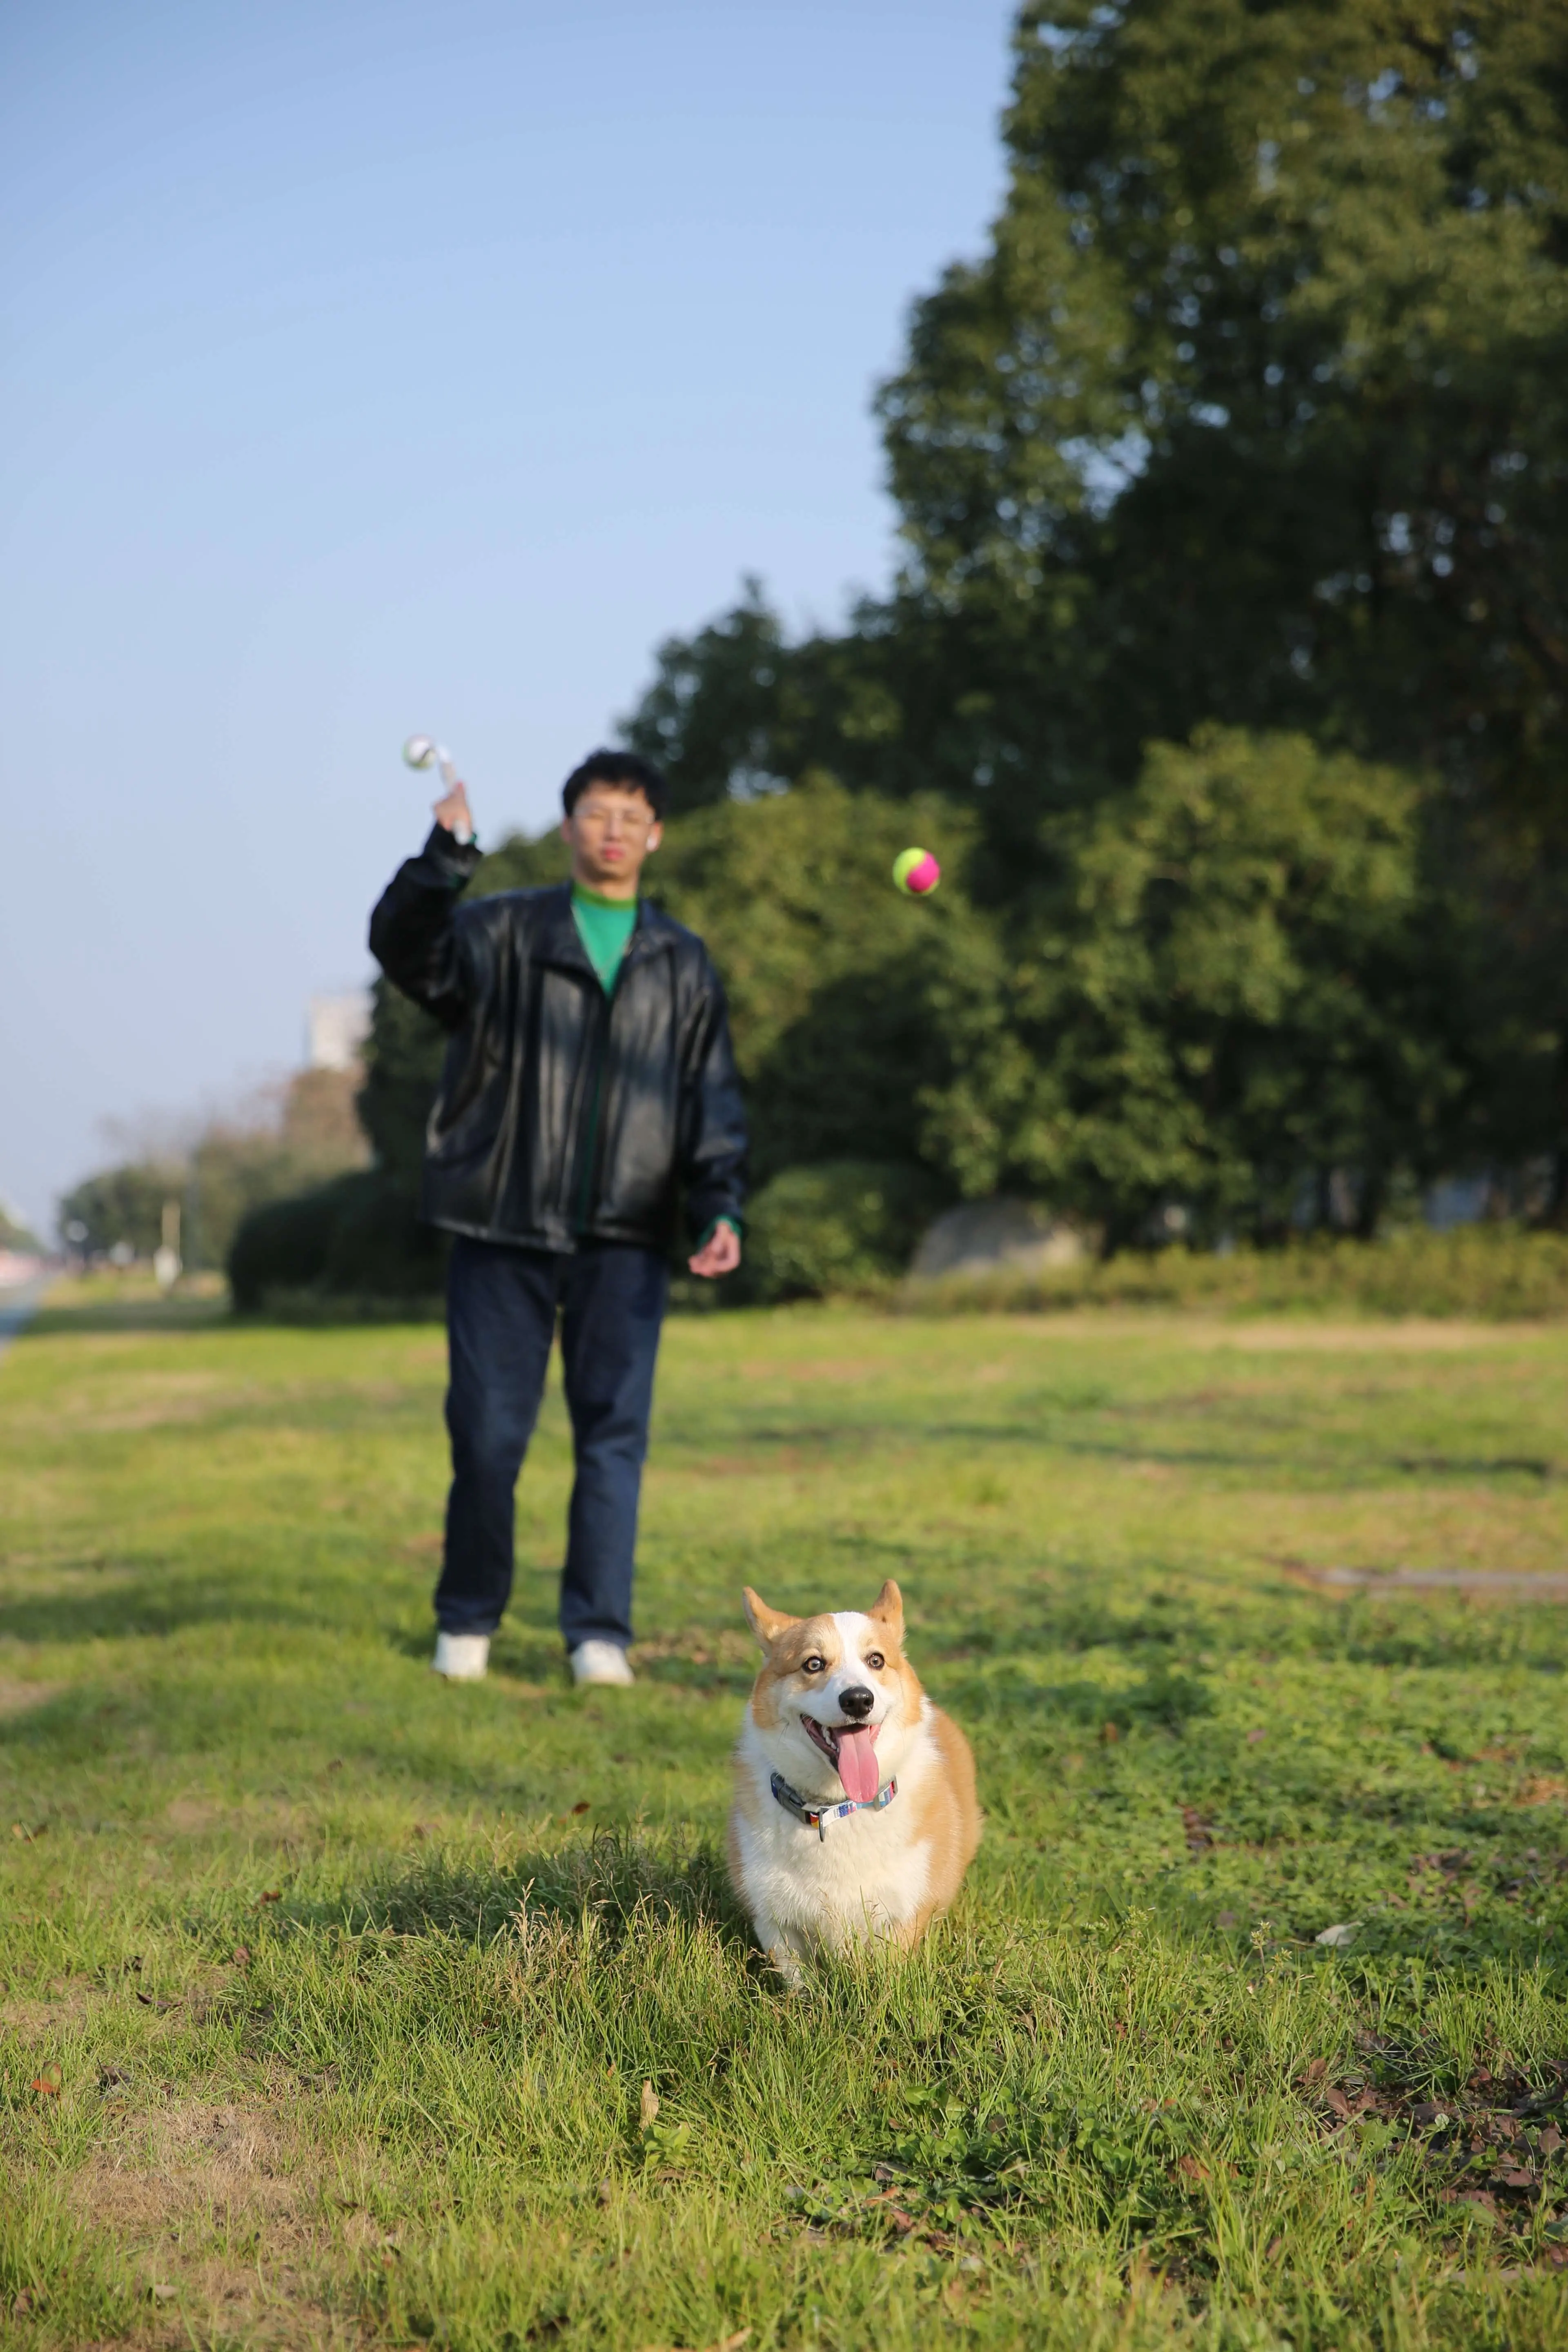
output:
[[[1048,1312],[1077,1305],[1218,1312],[1568,1315],[1568,1235],[1521,1225],[1408,1228],[1382,1242],[1312,1237],[1286,1249],[1119,1251],[1086,1265],[907,1282],[905,1312]]]

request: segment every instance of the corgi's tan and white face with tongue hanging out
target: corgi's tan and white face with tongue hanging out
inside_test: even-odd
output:
[[[903,1656],[903,1597],[889,1583],[872,1609],[792,1618],[745,1588],[764,1661],[752,1722],[776,1769],[802,1792],[867,1804],[898,1771],[924,1693]]]

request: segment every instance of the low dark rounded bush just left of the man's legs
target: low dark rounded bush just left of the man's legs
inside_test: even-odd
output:
[[[442,1268],[444,1244],[418,1223],[414,1192],[371,1169],[252,1209],[228,1254],[228,1287],[252,1315],[277,1294],[425,1298]]]

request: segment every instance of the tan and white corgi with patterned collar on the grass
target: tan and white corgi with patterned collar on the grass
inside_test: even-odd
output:
[[[764,1661],[736,1745],[729,1875],[788,1983],[816,1950],[912,1950],[980,1844],[976,1764],[903,1656],[889,1578],[865,1613],[792,1618],[745,1588]]]

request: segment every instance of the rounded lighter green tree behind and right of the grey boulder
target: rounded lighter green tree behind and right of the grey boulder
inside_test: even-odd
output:
[[[1394,1171],[1446,1164],[1472,1077],[1439,915],[1408,776],[1302,736],[1154,743],[1072,830],[1037,934],[938,1000],[959,1075],[926,1152],[1110,1247],[1178,1202],[1267,1237],[1347,1167],[1371,1230]]]

